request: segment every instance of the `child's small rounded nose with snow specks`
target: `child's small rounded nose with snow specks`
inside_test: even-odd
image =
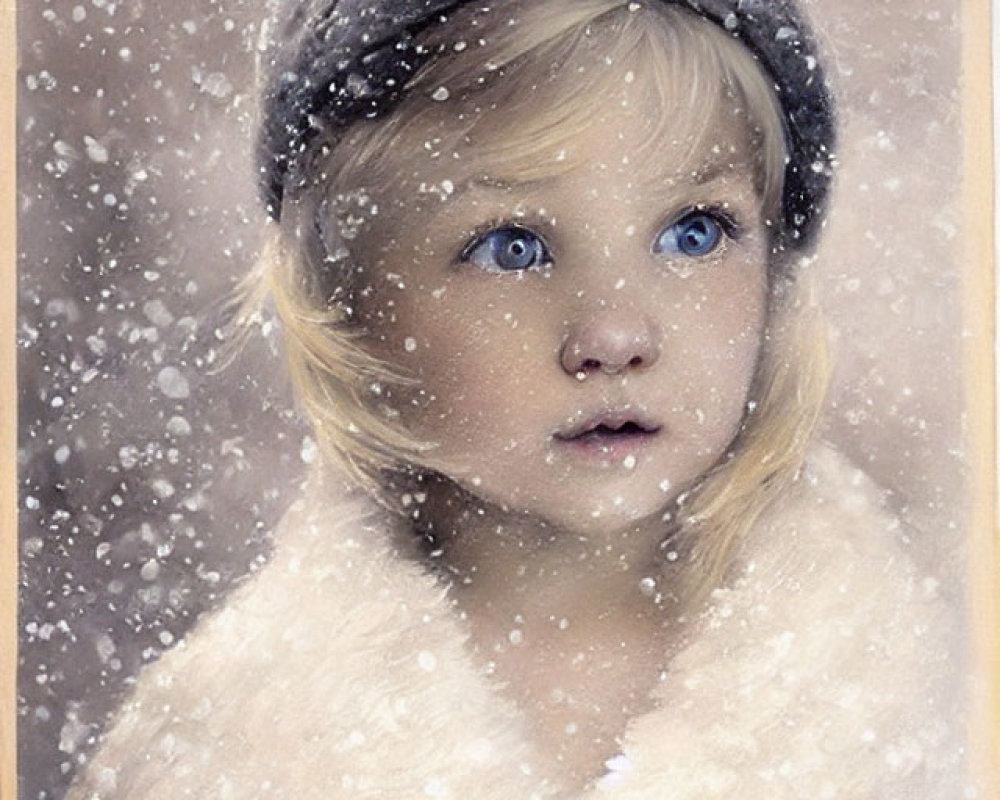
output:
[[[562,368],[573,376],[648,369],[659,357],[656,326],[628,309],[605,309],[580,320],[559,354]]]

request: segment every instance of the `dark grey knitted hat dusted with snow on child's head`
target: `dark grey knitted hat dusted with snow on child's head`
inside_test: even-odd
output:
[[[686,7],[738,38],[774,84],[789,154],[779,241],[805,248],[826,206],[833,100],[793,0],[644,0]],[[427,58],[420,34],[468,0],[277,0],[257,141],[260,194],[281,218],[285,185],[320,130],[391,110]],[[479,5],[488,2],[478,0]],[[281,11],[283,10],[283,19]]]

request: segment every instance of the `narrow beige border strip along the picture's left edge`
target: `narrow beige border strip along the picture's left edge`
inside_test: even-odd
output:
[[[16,19],[0,0],[0,800],[17,797]]]

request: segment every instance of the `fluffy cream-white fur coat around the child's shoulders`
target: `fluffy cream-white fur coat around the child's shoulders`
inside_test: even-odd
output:
[[[826,447],[586,797],[963,796],[954,609]],[[525,721],[379,512],[315,481],[274,558],[140,678],[70,798],[548,798]]]

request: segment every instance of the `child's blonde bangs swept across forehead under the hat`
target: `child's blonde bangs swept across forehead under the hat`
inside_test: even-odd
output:
[[[407,154],[453,159],[470,176],[551,178],[579,166],[567,143],[594,128],[596,109],[638,104],[644,131],[630,157],[653,163],[669,142],[676,159],[680,144],[677,172],[702,166],[715,126],[733,116],[764,215],[778,216],[786,149],[774,92],[738,40],[689,11],[659,0],[464,7],[422,46],[430,59],[406,99],[356,126],[324,180],[390,188]]]

